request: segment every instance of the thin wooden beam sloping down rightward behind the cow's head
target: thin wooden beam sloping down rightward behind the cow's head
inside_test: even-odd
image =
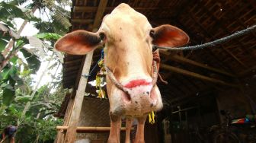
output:
[[[210,81],[210,82],[213,82],[213,83],[216,83],[216,84],[227,85],[229,87],[238,87],[237,84],[227,83],[225,81],[221,81],[221,80],[216,79],[216,78],[209,78],[205,75],[200,75],[200,74],[197,74],[195,72],[187,71],[187,70],[177,68],[177,67],[174,67],[174,66],[171,66],[171,65],[161,64],[160,68],[164,68],[164,69],[167,69],[169,71],[174,71],[178,74],[187,75],[187,76],[190,76],[190,77],[193,77],[193,78],[198,78],[198,79],[201,79],[203,81]]]

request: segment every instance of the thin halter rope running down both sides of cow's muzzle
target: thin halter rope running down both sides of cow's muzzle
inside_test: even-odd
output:
[[[105,62],[105,60],[104,60]],[[156,84],[156,81],[158,79],[158,64],[157,62],[159,62],[158,60],[155,60],[153,59],[153,62],[152,62],[152,70],[153,70],[153,73],[152,73],[152,90],[153,88],[155,87],[155,84]],[[117,78],[114,76],[113,72],[110,71],[110,68],[107,67],[107,64],[104,63],[104,66],[105,66],[105,69],[107,71],[107,76],[110,78],[110,81],[118,88],[120,89],[121,91],[123,91],[124,93],[126,94],[129,94],[129,91],[126,87],[123,87],[123,84],[120,84],[119,81],[117,81]],[[130,94],[129,94],[130,95]]]

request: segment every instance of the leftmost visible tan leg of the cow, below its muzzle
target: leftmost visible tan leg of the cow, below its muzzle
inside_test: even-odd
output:
[[[110,135],[107,143],[120,143],[121,117],[110,113]]]

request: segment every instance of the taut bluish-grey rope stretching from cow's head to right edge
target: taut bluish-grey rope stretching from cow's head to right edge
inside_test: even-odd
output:
[[[209,42],[209,43],[203,43],[203,44],[200,44],[200,45],[196,45],[196,46],[181,46],[181,47],[163,47],[163,46],[153,46],[153,48],[155,49],[167,49],[169,51],[177,51],[177,50],[192,50],[192,49],[203,49],[203,48],[206,48],[206,47],[213,47],[213,46],[216,46],[220,43],[224,43],[228,40],[232,40],[233,38],[236,38],[236,37],[241,37],[242,35],[245,35],[246,33],[249,33],[253,30],[256,29],[256,25],[253,25],[251,27],[248,27],[246,28],[245,30],[240,30],[240,31],[237,31],[235,33],[232,33],[231,35],[227,36],[227,37],[223,37],[223,38],[220,38],[219,40],[214,40],[212,42]]]

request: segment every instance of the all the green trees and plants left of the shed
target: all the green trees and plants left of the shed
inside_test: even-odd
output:
[[[40,68],[40,58],[24,46],[29,43],[27,37],[15,37],[17,27],[14,18],[34,21],[40,33],[36,35],[43,44],[53,43],[68,32],[69,11],[62,8],[69,4],[68,0],[34,0],[26,8],[19,8],[27,0],[8,0],[0,2],[0,52],[5,51],[9,40],[14,39],[14,46],[5,54],[0,54],[0,64],[7,63],[0,72],[0,132],[6,126],[18,126],[15,137],[17,142],[53,142],[56,136],[56,126],[62,125],[62,119],[56,119],[53,114],[59,111],[66,91],[60,84],[61,75],[50,85],[36,89],[31,96],[34,83],[31,74],[36,74]],[[55,5],[58,3],[58,5]],[[50,10],[49,21],[42,21],[32,16],[32,8],[39,8],[40,13]],[[7,31],[6,31],[7,29]],[[48,51],[48,50],[46,50]],[[18,53],[18,54],[17,54]],[[53,57],[50,57],[53,58]],[[1,66],[0,66],[1,67]],[[25,105],[30,106],[24,113]]]

